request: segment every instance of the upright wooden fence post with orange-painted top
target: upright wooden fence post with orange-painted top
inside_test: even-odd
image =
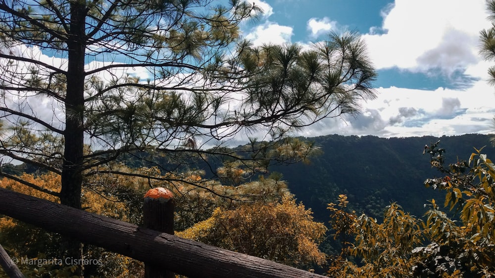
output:
[[[143,204],[144,227],[174,234],[174,198],[170,190],[157,187],[148,190]],[[170,262],[173,264],[174,262]],[[159,265],[145,263],[145,278],[175,278],[175,274]]]

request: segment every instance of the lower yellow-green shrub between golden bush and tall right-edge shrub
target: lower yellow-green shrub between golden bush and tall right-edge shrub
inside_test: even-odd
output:
[[[387,206],[384,221],[355,212],[347,212],[347,197],[339,197],[338,208],[330,203],[331,224],[338,235],[354,236],[343,244],[342,253],[331,256],[329,275],[332,277],[405,277],[415,262],[411,252],[426,238],[424,223],[404,213],[396,203]],[[362,266],[349,261],[361,259]]]

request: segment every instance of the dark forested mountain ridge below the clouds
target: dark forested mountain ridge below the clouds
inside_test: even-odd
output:
[[[283,174],[291,192],[313,209],[318,221],[328,221],[327,203],[335,202],[339,194],[348,196],[349,205],[357,213],[381,218],[385,206],[397,202],[405,211],[421,217],[428,200],[435,198],[443,203],[445,198],[445,192],[424,186],[427,178],[442,176],[430,165],[430,156],[423,155],[424,146],[440,140],[448,164],[468,160],[473,148],[483,146],[482,153],[494,158],[489,139],[489,135],[480,134],[441,138],[327,135],[308,138],[323,151],[309,164],[272,166],[270,170]]]

